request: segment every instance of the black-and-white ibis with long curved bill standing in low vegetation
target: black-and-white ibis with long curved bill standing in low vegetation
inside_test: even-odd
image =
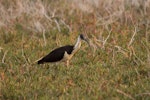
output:
[[[63,61],[66,63],[66,66],[68,67],[71,58],[80,49],[82,40],[84,40],[89,44],[89,41],[85,37],[85,35],[80,34],[74,45],[66,45],[52,50],[49,54],[40,59],[38,61],[38,64]]]

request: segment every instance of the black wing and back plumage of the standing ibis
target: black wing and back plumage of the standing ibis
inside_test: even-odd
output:
[[[44,58],[39,60],[38,64],[43,64],[44,62],[57,62],[57,61],[60,61],[63,58],[65,51],[68,54],[71,54],[71,52],[73,51],[73,46],[67,45],[67,46],[63,46],[63,47],[54,49],[47,56],[45,56]]]

